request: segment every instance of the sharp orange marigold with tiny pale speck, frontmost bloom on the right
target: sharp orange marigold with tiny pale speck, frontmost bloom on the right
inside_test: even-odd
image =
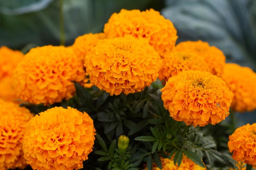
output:
[[[205,71],[182,71],[169,78],[161,91],[171,117],[193,126],[224,120],[234,97],[221,78]]]

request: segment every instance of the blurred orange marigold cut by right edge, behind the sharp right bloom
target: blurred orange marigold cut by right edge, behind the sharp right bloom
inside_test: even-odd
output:
[[[231,103],[234,111],[243,113],[256,109],[256,73],[251,68],[227,63],[221,78],[234,93]]]

